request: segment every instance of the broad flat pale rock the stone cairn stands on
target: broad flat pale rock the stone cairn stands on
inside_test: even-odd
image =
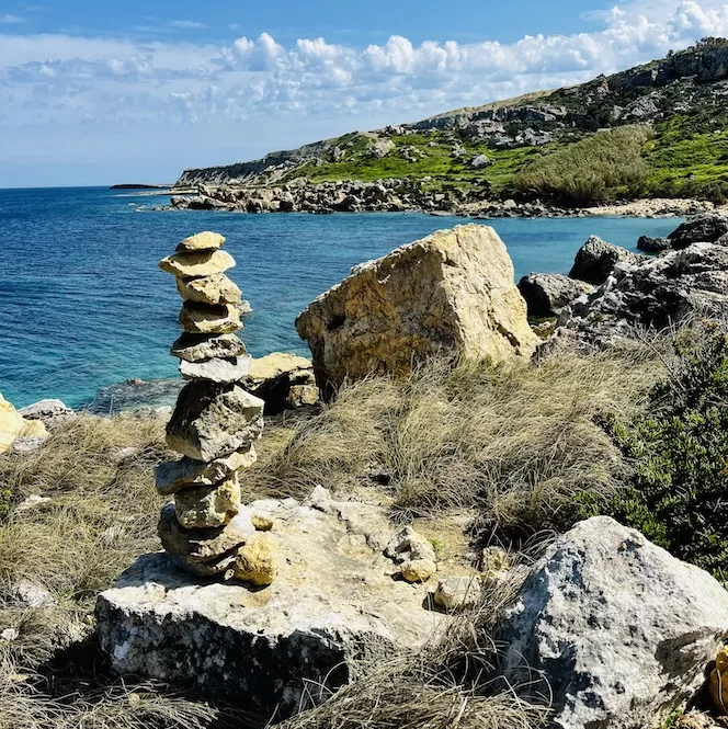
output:
[[[194,578],[163,553],[140,557],[99,596],[101,642],[122,673],[194,684],[285,717],[349,681],[361,659],[416,648],[444,625],[425,585],[398,580],[384,511],[333,501],[259,501],[278,556],[265,589]],[[242,523],[242,522],[241,522]],[[252,527],[251,527],[252,528]]]

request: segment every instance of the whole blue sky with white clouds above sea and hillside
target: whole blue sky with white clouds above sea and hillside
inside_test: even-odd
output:
[[[0,0],[0,186],[171,182],[726,34],[715,0]]]

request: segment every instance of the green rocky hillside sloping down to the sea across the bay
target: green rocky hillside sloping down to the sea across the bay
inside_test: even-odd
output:
[[[300,189],[323,197],[321,209],[310,212],[350,209],[343,189],[353,181],[385,189],[393,181],[414,191],[412,200],[388,200],[384,209],[452,209],[509,198],[566,207],[625,197],[723,202],[727,79],[728,41],[707,38],[580,86],[353,132],[254,161],[189,169],[175,187],[196,190],[207,198],[197,201],[206,209],[249,212],[306,210]],[[598,186],[578,178],[569,153]],[[564,181],[569,175],[576,181]],[[327,185],[343,190],[343,197],[327,195]],[[282,204],[266,206],[254,203],[252,193],[261,190],[276,193]],[[195,204],[181,198],[177,206]]]

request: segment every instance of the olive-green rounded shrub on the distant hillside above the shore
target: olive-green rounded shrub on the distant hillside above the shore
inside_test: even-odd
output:
[[[642,147],[651,132],[624,126],[590,135],[535,159],[513,178],[520,193],[585,205],[634,195],[649,168]]]

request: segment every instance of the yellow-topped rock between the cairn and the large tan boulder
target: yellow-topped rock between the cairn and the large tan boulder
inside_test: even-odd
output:
[[[253,360],[243,386],[265,401],[266,415],[316,405],[319,399],[310,360],[286,352]]]

